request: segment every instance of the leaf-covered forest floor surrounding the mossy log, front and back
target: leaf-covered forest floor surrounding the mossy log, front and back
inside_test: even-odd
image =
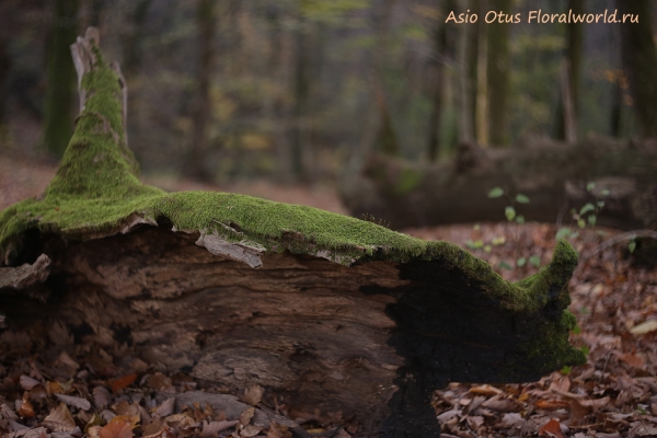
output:
[[[54,173],[53,163],[1,157],[0,210],[39,194]],[[171,191],[221,189],[345,212],[330,187],[264,182],[215,187],[162,177],[145,182]],[[509,280],[533,274],[534,265],[550,261],[556,231],[544,223],[404,230],[422,239],[454,242]],[[578,321],[572,342],[587,353],[588,362],[538,382],[453,382],[436,391],[433,403],[442,437],[657,437],[657,264],[642,253],[641,243],[632,254],[626,242],[604,247],[619,233],[585,229],[570,239],[581,255],[569,285],[569,309]],[[8,333],[0,334],[4,345],[21,342],[20,334]],[[162,373],[139,359],[128,362],[117,351],[120,346],[73,357],[62,353],[56,360],[35,353],[0,362],[0,435],[345,438],[357,431],[358,425],[324,413],[273,405],[266,390],[257,387],[221,399],[224,404],[215,408],[200,403],[207,401],[200,396],[198,403],[189,399],[185,406],[180,403],[183,392],[203,389],[209,396],[221,389],[184,373]],[[267,408],[280,415],[278,424],[257,424],[254,413]]]

